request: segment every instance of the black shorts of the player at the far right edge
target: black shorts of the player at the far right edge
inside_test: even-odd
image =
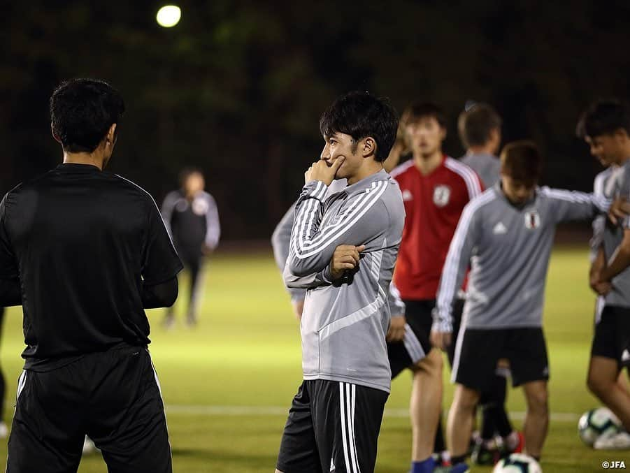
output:
[[[617,360],[620,368],[630,366],[630,309],[606,305],[595,326],[591,356]]]

